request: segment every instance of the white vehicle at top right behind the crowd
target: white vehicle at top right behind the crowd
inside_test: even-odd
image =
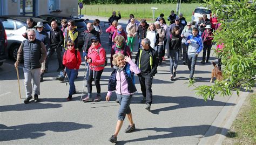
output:
[[[198,7],[192,12],[192,23],[196,24],[199,17],[203,17],[203,14],[207,15],[207,18],[210,19],[212,11],[205,7]]]

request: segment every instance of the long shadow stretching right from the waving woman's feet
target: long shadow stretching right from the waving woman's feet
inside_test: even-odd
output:
[[[226,128],[215,127],[215,126],[210,126],[210,125],[180,126],[180,127],[170,127],[170,128],[154,127],[154,128],[145,128],[145,129],[136,129],[136,132],[143,132],[144,130],[152,130],[154,132],[162,132],[162,133],[166,133],[166,134],[149,135],[147,137],[142,137],[140,139],[118,141],[116,144],[126,144],[126,143],[130,143],[130,142],[166,139],[166,138],[171,138],[171,137],[183,137],[183,136],[194,136],[194,135],[203,136],[205,134],[205,132],[208,130],[208,128],[210,128],[210,127],[215,128],[216,130],[218,130],[218,132],[212,133],[207,136],[213,136],[215,134],[220,134],[221,130],[223,130],[223,129],[228,130]],[[154,133],[152,133],[152,134],[154,134]],[[207,136],[205,136],[205,137],[207,137]]]

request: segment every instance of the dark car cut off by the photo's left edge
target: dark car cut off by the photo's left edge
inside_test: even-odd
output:
[[[3,22],[2,20],[0,20],[0,66],[3,65],[4,61],[7,58],[7,36],[5,33]]]

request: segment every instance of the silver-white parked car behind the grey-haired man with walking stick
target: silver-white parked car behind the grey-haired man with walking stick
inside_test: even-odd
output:
[[[18,48],[23,40],[25,40],[22,34],[26,32],[26,19],[28,18],[32,18],[35,23],[43,22],[44,30],[50,34],[51,27],[46,20],[18,15],[0,16],[0,20],[3,22],[8,39],[7,49],[9,58],[14,60],[17,58]]]

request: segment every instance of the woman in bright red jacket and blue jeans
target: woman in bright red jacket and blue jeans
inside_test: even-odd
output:
[[[78,74],[78,69],[81,64],[81,56],[79,51],[75,49],[75,43],[72,40],[69,40],[67,45],[68,49],[63,55],[63,65],[66,67],[66,74],[69,79],[69,96],[68,101],[72,100],[72,94],[76,93],[75,79]]]

